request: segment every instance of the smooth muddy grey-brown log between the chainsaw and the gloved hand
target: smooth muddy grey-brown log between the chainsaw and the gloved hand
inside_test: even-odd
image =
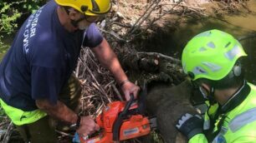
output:
[[[147,111],[156,116],[158,130],[166,143],[187,142],[175,125],[183,114],[197,112],[190,101],[191,93],[192,85],[189,81],[183,81],[178,86],[151,86],[148,91]]]

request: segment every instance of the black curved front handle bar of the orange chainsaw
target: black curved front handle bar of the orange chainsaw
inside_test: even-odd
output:
[[[122,121],[123,121],[125,115],[127,114],[127,111],[131,107],[131,103],[132,103],[133,100],[134,100],[134,95],[131,94],[130,100],[126,103],[124,110],[120,112],[120,114],[118,115],[118,117],[117,117],[117,119],[114,123],[113,141],[119,141],[120,126],[122,125]]]

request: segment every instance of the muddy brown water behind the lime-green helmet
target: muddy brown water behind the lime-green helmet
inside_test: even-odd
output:
[[[207,18],[200,21],[191,21],[181,24],[175,32],[163,34],[159,44],[145,49],[147,52],[161,52],[169,56],[181,58],[183,47],[187,41],[199,32],[210,29],[219,29],[232,34],[241,41],[245,51],[248,53],[246,60],[246,78],[256,84],[256,1],[248,2],[251,12],[241,12],[232,16],[222,18]],[[248,37],[252,35],[251,37]],[[156,41],[155,41],[156,42]]]

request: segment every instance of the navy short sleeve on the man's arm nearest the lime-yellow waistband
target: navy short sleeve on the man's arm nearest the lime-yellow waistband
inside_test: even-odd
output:
[[[64,79],[63,69],[54,67],[32,67],[31,89],[34,100],[47,99],[56,104]]]

